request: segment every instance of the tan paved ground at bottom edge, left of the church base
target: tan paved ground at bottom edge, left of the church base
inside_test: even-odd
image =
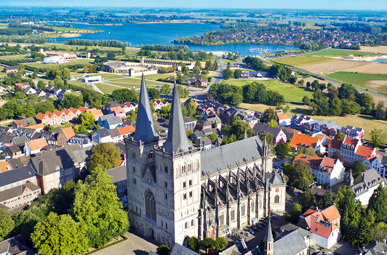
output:
[[[125,240],[116,245],[93,253],[94,255],[148,255],[150,251],[156,252],[157,246],[133,234],[126,233]]]

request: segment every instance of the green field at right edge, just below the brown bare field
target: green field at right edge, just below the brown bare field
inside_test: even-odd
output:
[[[327,74],[326,76],[341,82],[351,83],[364,89],[387,94],[387,82],[380,84],[370,84],[371,81],[387,81],[387,74],[336,72]]]

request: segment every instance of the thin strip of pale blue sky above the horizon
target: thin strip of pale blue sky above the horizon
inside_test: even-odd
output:
[[[0,6],[387,10],[387,0],[0,0]]]

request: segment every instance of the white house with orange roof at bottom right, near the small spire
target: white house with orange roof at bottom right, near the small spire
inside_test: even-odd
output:
[[[340,213],[335,205],[324,210],[309,208],[300,216],[300,225],[310,233],[310,245],[329,249],[340,240]]]

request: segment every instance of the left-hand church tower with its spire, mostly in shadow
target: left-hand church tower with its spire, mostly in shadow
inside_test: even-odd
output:
[[[156,187],[154,161],[154,147],[158,144],[159,136],[153,123],[153,113],[143,75],[136,132],[133,137],[125,139],[128,209],[130,224],[141,229],[145,236],[155,241],[158,232],[155,228],[158,220],[158,201],[161,201],[161,195]]]

